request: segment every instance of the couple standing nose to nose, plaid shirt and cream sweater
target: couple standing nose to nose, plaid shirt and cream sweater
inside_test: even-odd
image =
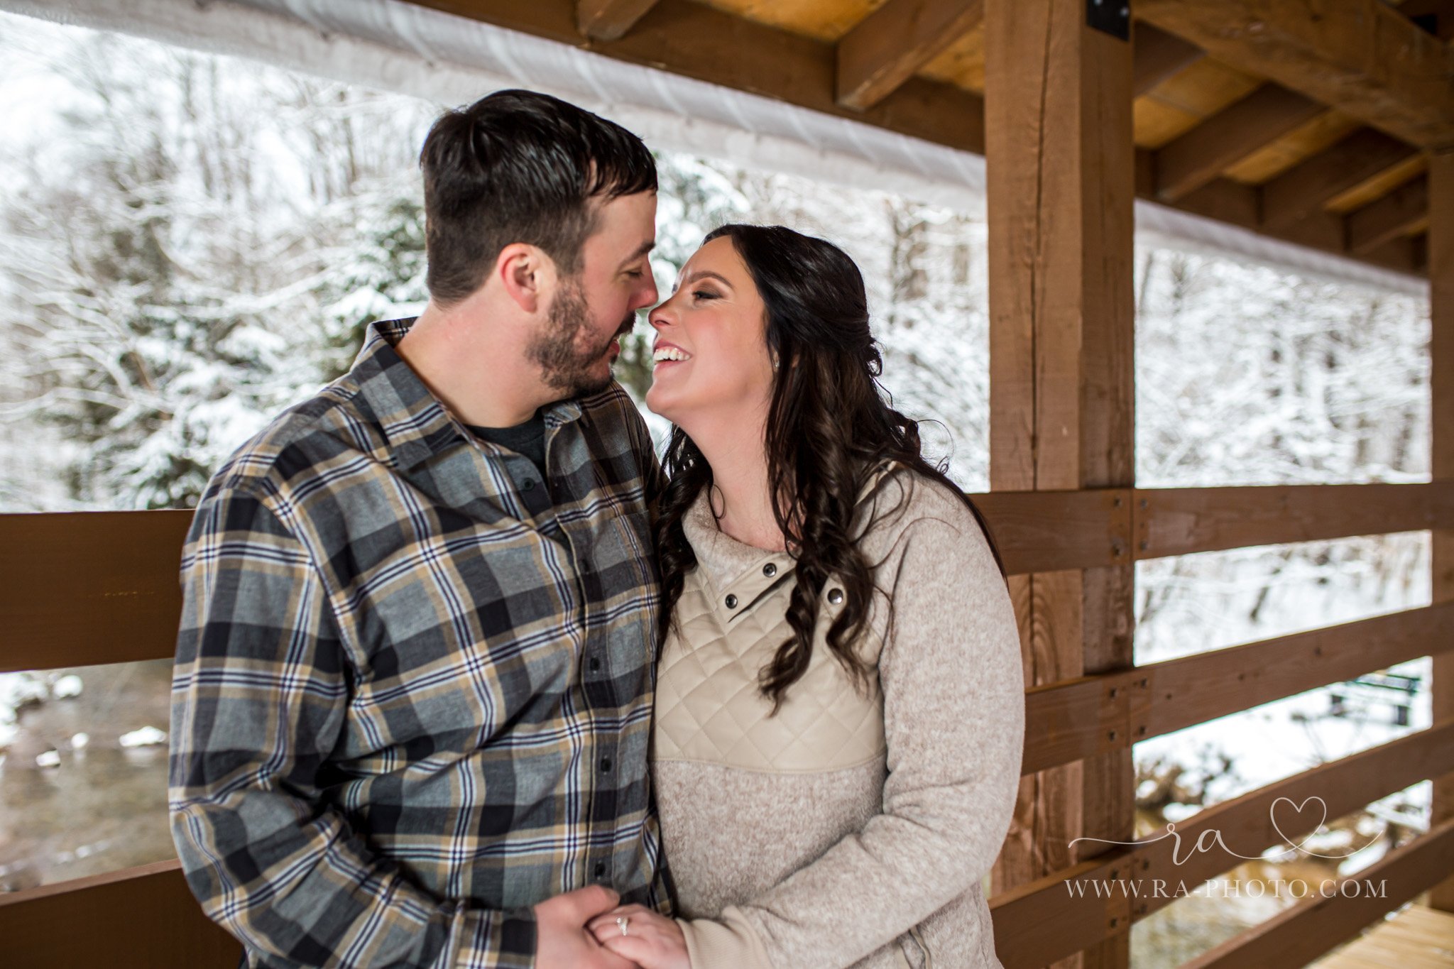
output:
[[[707,237],[612,381],[656,167],[500,92],[430,129],[429,305],[217,472],[172,830],[249,966],[995,968],[1024,680],[862,277]]]

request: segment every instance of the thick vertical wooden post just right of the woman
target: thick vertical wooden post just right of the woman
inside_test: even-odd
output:
[[[1088,26],[1086,10],[986,3],[995,491],[1136,484],[1131,45]],[[1131,665],[1134,568],[1130,549],[1120,556],[1012,578],[1027,684]],[[1134,795],[1128,747],[1027,776],[992,892],[1108,847],[1073,838],[1130,841]],[[1130,901],[1085,904],[1108,904],[1115,934],[1056,965],[1127,966]]]

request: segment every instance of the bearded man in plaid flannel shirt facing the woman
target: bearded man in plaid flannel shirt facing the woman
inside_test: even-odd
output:
[[[650,805],[656,167],[500,92],[420,155],[429,305],[212,478],[182,559],[172,830],[252,966],[630,966]]]

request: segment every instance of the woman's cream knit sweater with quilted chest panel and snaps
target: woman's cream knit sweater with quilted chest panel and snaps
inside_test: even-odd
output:
[[[875,681],[855,690],[823,644],[830,580],[776,716],[756,677],[788,636],[792,559],[718,530],[705,494],[683,517],[698,568],[659,665],[653,780],[694,969],[1000,966],[980,883],[1019,783],[1013,607],[938,482],[881,469],[856,514],[884,593],[861,644]]]

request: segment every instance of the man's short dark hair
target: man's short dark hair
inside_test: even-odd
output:
[[[419,166],[429,295],[441,305],[478,289],[512,243],[538,246],[563,275],[576,275],[596,227],[595,200],[656,190],[656,163],[640,138],[526,90],[446,110]]]

